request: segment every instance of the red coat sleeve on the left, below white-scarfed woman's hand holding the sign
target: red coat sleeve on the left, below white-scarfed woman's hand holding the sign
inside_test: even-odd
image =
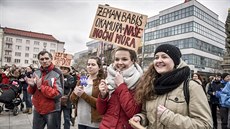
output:
[[[108,106],[108,99],[109,99],[108,96],[105,99],[101,98],[101,95],[99,93],[97,101],[96,101],[96,107],[100,115],[105,114],[107,106]]]

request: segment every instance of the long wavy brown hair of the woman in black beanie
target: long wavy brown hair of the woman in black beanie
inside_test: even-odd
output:
[[[144,72],[136,87],[135,99],[138,103],[145,103],[147,100],[153,99],[155,94],[153,81],[158,77],[159,74],[156,72],[154,65],[149,65],[148,70]]]

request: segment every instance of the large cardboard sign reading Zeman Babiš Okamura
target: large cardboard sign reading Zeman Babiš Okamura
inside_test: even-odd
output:
[[[99,5],[90,38],[137,51],[147,16]]]

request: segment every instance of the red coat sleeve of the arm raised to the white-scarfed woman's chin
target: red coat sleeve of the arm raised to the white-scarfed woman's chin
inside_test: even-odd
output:
[[[114,93],[118,95],[122,110],[129,118],[141,111],[141,105],[137,104],[134,99],[134,91],[135,90],[129,90],[125,83],[120,84],[120,86],[114,91]]]

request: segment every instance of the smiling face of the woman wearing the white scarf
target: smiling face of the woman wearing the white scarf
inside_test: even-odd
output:
[[[133,64],[129,51],[119,50],[115,53],[114,66],[118,71],[124,71]]]

